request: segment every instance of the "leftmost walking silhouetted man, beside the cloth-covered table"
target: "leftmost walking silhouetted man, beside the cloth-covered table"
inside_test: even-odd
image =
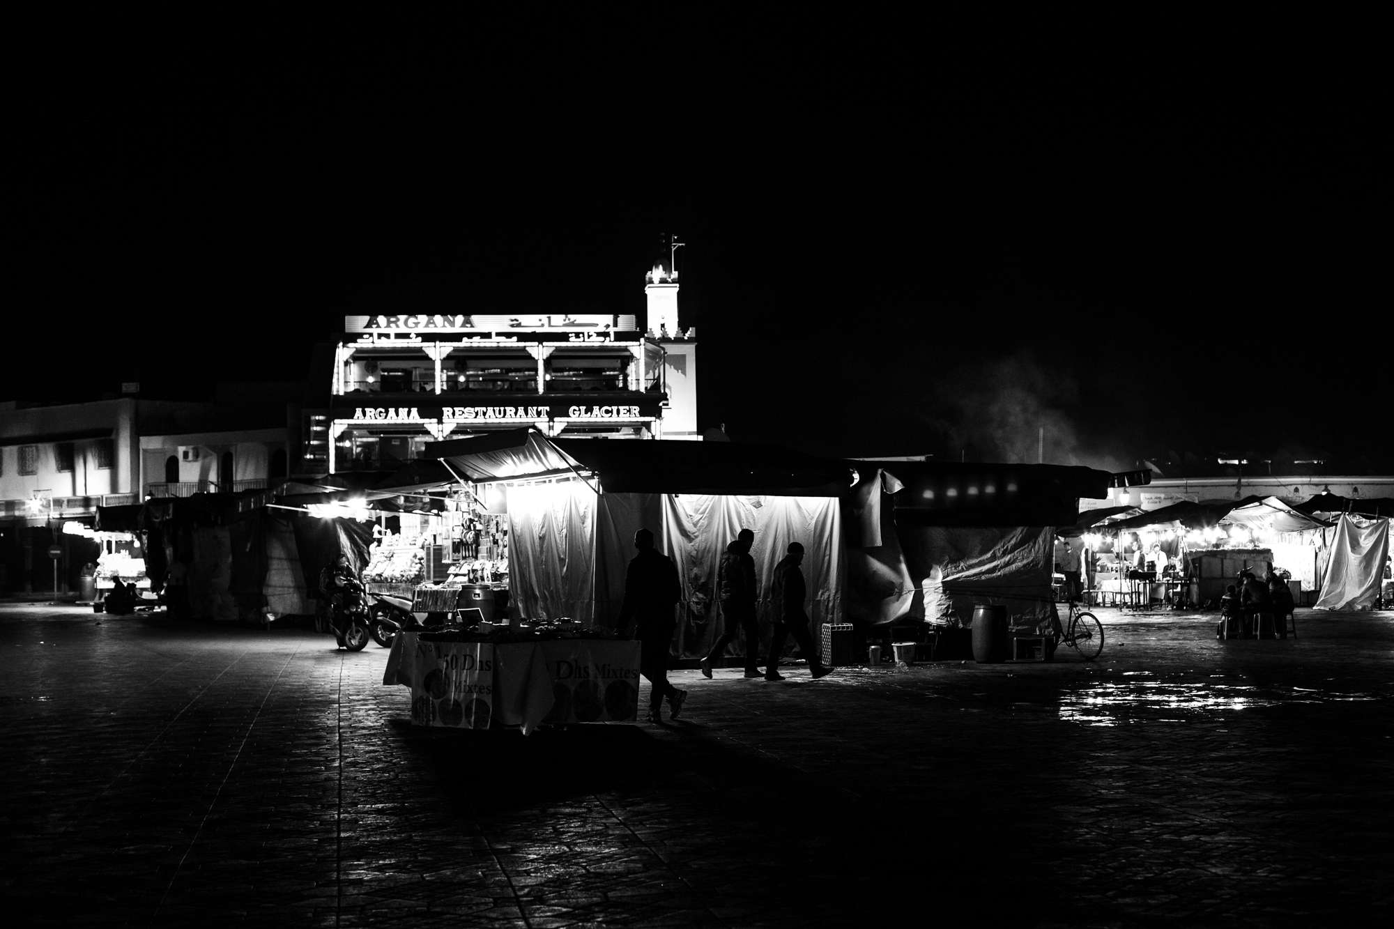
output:
[[[625,603],[619,610],[619,628],[640,642],[638,672],[648,678],[648,721],[662,723],[664,697],[672,718],[683,710],[687,690],[668,682],[668,649],[677,628],[677,601],[682,587],[673,559],[654,550],[654,533],[634,533],[638,554],[625,575]]]

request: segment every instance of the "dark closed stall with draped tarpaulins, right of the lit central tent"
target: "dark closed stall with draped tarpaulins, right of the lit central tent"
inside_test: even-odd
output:
[[[1057,526],[1112,478],[1052,464],[849,463],[848,617],[871,626],[967,625],[979,604],[1046,621]]]

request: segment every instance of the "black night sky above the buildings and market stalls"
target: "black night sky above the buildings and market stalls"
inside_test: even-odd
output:
[[[1387,455],[1373,28],[510,10],[17,31],[0,395],[300,377],[354,312],[641,312],[675,232],[736,438]]]

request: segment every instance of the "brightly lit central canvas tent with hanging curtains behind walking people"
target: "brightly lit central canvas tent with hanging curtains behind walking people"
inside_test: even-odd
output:
[[[742,527],[756,533],[765,624],[765,591],[790,541],[804,545],[814,633],[842,618],[838,494],[850,471],[839,462],[763,444],[566,439],[533,428],[432,442],[425,453],[502,501],[509,603],[523,618],[613,625],[640,527],[683,582],[679,657],[705,654],[721,633],[717,566]]]

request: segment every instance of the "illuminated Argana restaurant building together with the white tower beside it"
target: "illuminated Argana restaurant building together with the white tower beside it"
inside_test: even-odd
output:
[[[428,442],[535,427],[546,435],[697,439],[697,345],[677,273],[647,273],[634,315],[346,317],[326,409],[307,411],[301,473],[393,470]]]

